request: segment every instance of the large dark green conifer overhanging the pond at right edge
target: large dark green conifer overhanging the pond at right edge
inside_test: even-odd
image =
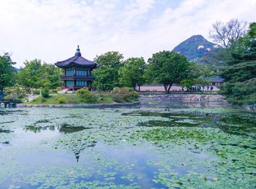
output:
[[[252,35],[251,39],[246,39],[249,45],[244,43],[239,53],[233,53],[234,60],[227,63],[222,70],[226,83],[221,88],[221,93],[227,96],[227,101],[231,104],[256,103],[256,38],[255,33],[251,31],[255,29],[255,23],[252,24],[245,36],[247,38]],[[241,39],[241,42],[244,40]]]

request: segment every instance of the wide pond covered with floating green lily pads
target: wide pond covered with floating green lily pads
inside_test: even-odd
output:
[[[255,188],[256,115],[0,108],[0,188]]]

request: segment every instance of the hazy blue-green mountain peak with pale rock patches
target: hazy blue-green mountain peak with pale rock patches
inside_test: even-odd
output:
[[[221,48],[222,47],[217,44],[208,42],[203,36],[195,35],[181,42],[172,51],[181,53],[187,57],[188,61],[192,61],[197,58],[202,58],[205,55],[216,53]]]

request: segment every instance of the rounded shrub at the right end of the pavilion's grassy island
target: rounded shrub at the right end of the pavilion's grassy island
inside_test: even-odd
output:
[[[113,99],[118,102],[135,101],[138,99],[138,93],[130,88],[113,88],[111,91]]]

